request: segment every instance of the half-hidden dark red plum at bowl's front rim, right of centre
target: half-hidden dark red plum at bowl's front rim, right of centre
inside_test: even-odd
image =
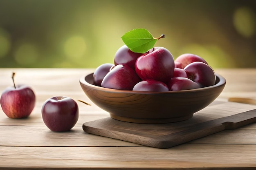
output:
[[[186,77],[173,77],[168,82],[168,87],[171,91],[181,91],[200,88],[200,85]]]

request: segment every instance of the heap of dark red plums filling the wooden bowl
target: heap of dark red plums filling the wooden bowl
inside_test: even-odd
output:
[[[180,91],[212,86],[216,75],[200,56],[190,53],[173,55],[164,47],[146,53],[134,53],[121,46],[114,64],[105,63],[93,73],[94,85],[133,91]]]

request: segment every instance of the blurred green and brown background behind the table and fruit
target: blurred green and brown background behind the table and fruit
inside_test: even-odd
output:
[[[0,0],[0,67],[96,68],[136,28],[174,58],[256,67],[256,0]]]

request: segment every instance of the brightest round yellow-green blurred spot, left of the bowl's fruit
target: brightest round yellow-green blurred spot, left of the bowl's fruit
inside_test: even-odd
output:
[[[64,52],[67,57],[80,58],[84,55],[86,49],[85,40],[79,36],[73,36],[65,42]]]

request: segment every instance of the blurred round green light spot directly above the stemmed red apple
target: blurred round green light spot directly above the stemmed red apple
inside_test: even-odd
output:
[[[38,49],[30,43],[22,43],[14,53],[14,58],[21,66],[29,66],[37,61],[39,57]]]

